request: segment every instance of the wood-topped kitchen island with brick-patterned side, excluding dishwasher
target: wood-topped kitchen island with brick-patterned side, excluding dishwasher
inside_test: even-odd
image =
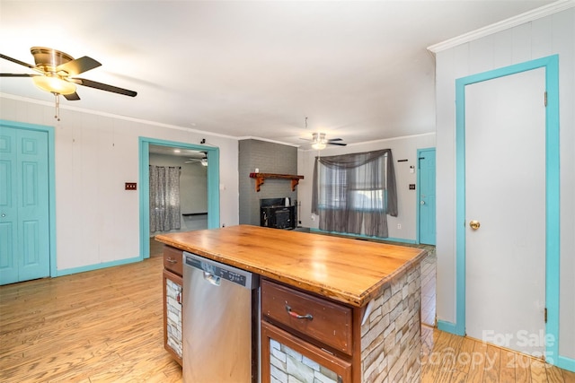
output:
[[[155,239],[261,275],[262,382],[420,380],[425,250],[250,225]]]

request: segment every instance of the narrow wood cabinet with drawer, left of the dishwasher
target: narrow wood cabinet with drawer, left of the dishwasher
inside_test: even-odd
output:
[[[181,336],[181,280],[182,251],[164,247],[164,348],[181,365],[183,344]]]

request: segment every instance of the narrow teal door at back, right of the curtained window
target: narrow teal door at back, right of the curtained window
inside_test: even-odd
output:
[[[419,242],[435,245],[435,148],[418,152]]]

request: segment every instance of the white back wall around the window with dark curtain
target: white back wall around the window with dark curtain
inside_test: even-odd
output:
[[[407,137],[381,140],[367,144],[349,144],[345,147],[329,147],[320,154],[323,157],[330,155],[346,154],[352,152],[370,152],[380,149],[391,149],[394,156],[395,181],[397,184],[397,217],[387,216],[390,239],[416,240],[416,197],[417,190],[409,190],[409,184],[415,184],[417,173],[410,173],[410,166],[415,166],[417,171],[417,150],[435,147],[435,134],[411,135]],[[317,229],[319,218],[312,221],[312,180],[314,179],[314,158],[317,151],[297,152],[297,174],[305,178],[299,181],[297,196],[301,201],[302,226]],[[408,160],[398,162],[398,160]],[[402,224],[402,229],[397,229],[397,224]]]

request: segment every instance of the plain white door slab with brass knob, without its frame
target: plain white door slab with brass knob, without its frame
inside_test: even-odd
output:
[[[533,355],[544,353],[544,90],[544,68],[465,87],[465,330]]]

